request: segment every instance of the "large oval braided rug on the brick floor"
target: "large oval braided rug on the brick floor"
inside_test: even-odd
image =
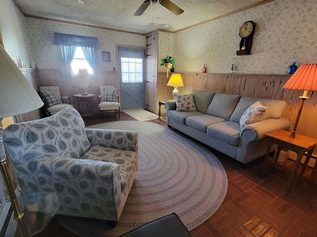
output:
[[[89,128],[139,132],[139,169],[115,228],[106,221],[56,216],[81,237],[122,235],[175,212],[189,231],[218,209],[228,187],[220,161],[206,148],[180,133],[151,122],[115,121]]]

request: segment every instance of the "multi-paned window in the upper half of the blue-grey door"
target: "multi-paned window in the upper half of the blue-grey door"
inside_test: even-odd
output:
[[[122,83],[143,82],[143,59],[121,58]]]

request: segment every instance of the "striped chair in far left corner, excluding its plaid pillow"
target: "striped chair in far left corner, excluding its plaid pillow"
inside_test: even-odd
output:
[[[68,106],[73,107],[73,105],[70,104],[70,99],[67,96],[61,96],[59,87],[57,85],[50,85],[50,86],[39,86],[39,90],[50,90],[55,95],[56,99],[58,100],[58,104],[53,106],[48,106],[46,103],[46,100],[42,98],[44,102],[44,108],[45,108],[45,114],[47,116],[51,116],[56,114],[61,109],[64,109]],[[41,95],[41,94],[40,94]],[[42,97],[42,96],[41,96]]]

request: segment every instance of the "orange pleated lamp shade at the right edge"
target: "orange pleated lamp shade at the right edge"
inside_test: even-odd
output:
[[[302,64],[283,88],[317,91],[317,64]]]

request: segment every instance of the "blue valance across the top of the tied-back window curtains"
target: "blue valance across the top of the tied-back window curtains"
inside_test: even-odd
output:
[[[54,45],[100,48],[96,37],[76,36],[54,32]]]

